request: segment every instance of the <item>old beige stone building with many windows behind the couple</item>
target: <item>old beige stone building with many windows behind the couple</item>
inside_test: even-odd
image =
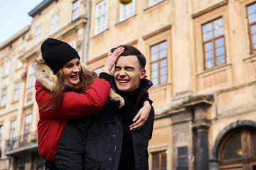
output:
[[[31,64],[49,37],[93,69],[118,45],[144,53],[150,169],[256,169],[255,0],[45,0],[29,15],[0,45],[0,169],[43,169]]]

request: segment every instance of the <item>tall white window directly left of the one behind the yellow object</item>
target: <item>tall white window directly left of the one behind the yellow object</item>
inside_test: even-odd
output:
[[[107,0],[100,2],[96,6],[96,26],[95,34],[101,33],[103,30],[107,29]]]

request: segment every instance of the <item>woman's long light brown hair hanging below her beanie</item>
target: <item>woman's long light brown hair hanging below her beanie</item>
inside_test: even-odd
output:
[[[97,74],[92,70],[82,67],[80,72],[80,82],[79,84],[72,84],[68,80],[64,79],[63,70],[60,69],[57,73],[57,84],[52,91],[52,95],[50,96],[50,100],[46,103],[47,107],[45,111],[49,111],[55,109],[59,106],[64,91],[75,91],[76,93],[83,94],[92,84],[94,79],[97,77]]]

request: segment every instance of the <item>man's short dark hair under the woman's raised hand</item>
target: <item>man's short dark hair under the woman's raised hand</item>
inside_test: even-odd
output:
[[[119,45],[118,47],[124,47],[124,52],[122,53],[122,56],[136,55],[141,69],[145,68],[146,58],[144,57],[144,55],[142,55],[142,52],[140,52],[136,47],[133,47],[131,45]],[[110,52],[114,52],[114,50],[116,50],[118,47],[112,48]]]

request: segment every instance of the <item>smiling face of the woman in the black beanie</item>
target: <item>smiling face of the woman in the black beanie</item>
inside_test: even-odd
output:
[[[68,80],[71,84],[79,84],[81,65],[78,58],[74,58],[64,64],[62,70],[64,79]]]

